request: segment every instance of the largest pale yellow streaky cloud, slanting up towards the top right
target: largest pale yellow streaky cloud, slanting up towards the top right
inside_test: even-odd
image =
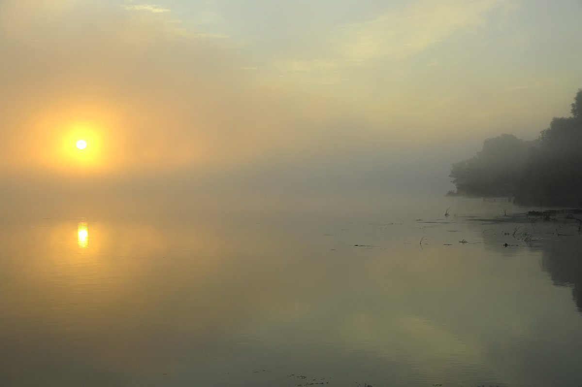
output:
[[[311,44],[318,49],[311,50],[308,56],[301,58],[297,52],[293,58],[279,58],[274,66],[287,72],[286,69],[301,63],[304,71],[314,72],[322,63],[327,68],[347,70],[369,66],[378,59],[404,61],[455,34],[471,33],[484,26],[488,12],[503,3],[502,0],[406,3],[363,22],[333,27],[314,38]]]

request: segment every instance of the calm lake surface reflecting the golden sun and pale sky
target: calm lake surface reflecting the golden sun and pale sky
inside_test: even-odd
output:
[[[451,205],[4,219],[0,385],[582,385],[577,229]]]

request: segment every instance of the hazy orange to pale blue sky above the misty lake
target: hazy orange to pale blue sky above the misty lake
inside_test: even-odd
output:
[[[580,0],[2,0],[0,173],[446,187],[485,138],[569,115],[581,16]]]

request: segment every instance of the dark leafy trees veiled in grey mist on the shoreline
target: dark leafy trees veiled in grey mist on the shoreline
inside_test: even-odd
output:
[[[453,164],[449,194],[514,197],[524,205],[582,205],[582,89],[572,116],[553,118],[534,141],[487,139],[473,158]]]

